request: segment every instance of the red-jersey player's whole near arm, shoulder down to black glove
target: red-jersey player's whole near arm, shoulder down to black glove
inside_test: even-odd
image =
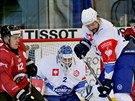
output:
[[[19,101],[31,101],[31,95],[27,95],[26,91],[20,89],[13,80],[11,74],[11,66],[14,65],[13,59],[10,59],[8,54],[4,54],[3,51],[0,52],[0,54],[0,83],[2,90],[7,92],[10,96],[16,97]]]

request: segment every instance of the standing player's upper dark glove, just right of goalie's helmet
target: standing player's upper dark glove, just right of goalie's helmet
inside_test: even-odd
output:
[[[88,40],[83,39],[74,47],[74,52],[79,59],[82,59],[82,55],[85,57],[89,51],[91,44]]]

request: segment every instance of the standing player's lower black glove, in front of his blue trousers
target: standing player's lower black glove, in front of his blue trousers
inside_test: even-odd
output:
[[[107,97],[107,95],[110,94],[112,90],[112,80],[110,79],[105,79],[102,82],[103,87],[98,87],[98,91],[100,92],[99,97]]]

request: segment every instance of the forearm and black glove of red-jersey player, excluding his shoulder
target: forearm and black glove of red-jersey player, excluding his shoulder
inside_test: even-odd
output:
[[[19,101],[31,101],[31,95],[27,95],[24,89],[20,89],[11,77],[10,71],[5,66],[0,66],[0,81],[2,89],[10,96],[16,97]]]

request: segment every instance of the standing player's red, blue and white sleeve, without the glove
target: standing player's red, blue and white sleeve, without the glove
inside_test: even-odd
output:
[[[117,45],[117,40],[108,39],[102,42],[98,46],[98,49],[101,52],[103,63],[104,63],[106,79],[112,79],[113,76],[113,70],[116,62],[116,53],[115,53],[116,45]]]

